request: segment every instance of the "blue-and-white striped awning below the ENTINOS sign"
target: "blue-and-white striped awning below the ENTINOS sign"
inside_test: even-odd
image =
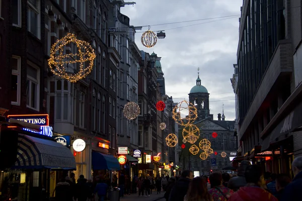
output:
[[[51,140],[18,135],[17,161],[12,169],[64,169],[75,170],[75,159],[71,151]]]

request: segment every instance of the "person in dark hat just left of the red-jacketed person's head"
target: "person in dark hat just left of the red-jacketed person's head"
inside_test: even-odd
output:
[[[247,184],[246,179],[245,179],[245,169],[247,166],[249,166],[251,163],[247,160],[243,160],[239,164],[238,168],[238,176],[233,177],[230,179],[228,182],[228,188],[237,191],[240,187],[245,186]]]

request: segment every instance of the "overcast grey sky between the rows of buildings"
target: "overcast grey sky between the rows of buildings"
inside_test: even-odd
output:
[[[124,1],[136,2],[134,7],[121,8],[121,13],[130,18],[133,26],[240,15],[242,6],[242,0]],[[201,84],[210,93],[210,113],[214,120],[222,113],[222,103],[225,119],[235,120],[235,95],[230,78],[237,60],[239,17],[217,20],[220,19],[152,26],[152,31],[165,30],[166,38],[159,39],[155,47],[148,49],[140,43],[141,33],[136,33],[135,42],[140,50],[162,57],[166,94],[172,95],[174,102],[189,99],[188,93],[196,85],[199,67]],[[200,25],[183,27],[194,24]],[[168,30],[177,27],[183,28]],[[141,31],[147,29],[143,27]]]

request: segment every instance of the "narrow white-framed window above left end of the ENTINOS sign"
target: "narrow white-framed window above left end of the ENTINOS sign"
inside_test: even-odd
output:
[[[21,87],[21,57],[12,58],[12,79],[11,79],[11,101],[13,105],[20,106]]]

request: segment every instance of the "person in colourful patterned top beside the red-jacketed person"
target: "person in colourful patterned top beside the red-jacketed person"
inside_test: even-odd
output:
[[[228,200],[234,191],[222,184],[222,175],[220,172],[213,172],[210,174],[211,189],[209,190],[213,201]]]

